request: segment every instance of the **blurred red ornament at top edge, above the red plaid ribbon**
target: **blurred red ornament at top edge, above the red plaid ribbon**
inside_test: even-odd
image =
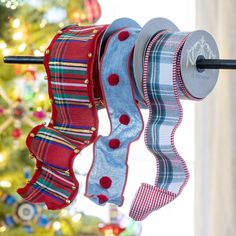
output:
[[[97,0],[85,0],[84,8],[89,22],[95,23],[101,17],[101,7]]]

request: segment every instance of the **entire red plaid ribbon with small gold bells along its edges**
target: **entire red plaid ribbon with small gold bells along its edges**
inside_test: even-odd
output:
[[[49,209],[61,209],[75,198],[79,184],[74,159],[97,136],[93,76],[98,72],[93,64],[105,28],[66,27],[53,39],[50,55],[45,55],[53,122],[33,128],[33,137],[27,137],[38,169],[18,193],[28,201],[44,202]]]

